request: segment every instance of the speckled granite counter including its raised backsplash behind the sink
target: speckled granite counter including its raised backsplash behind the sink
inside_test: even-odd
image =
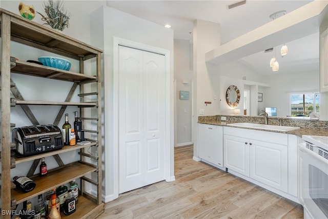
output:
[[[226,120],[221,120],[222,116],[226,117]],[[295,134],[300,137],[302,135],[328,136],[328,121],[304,120],[303,118],[269,117],[268,124],[278,126],[280,120],[282,126],[300,127],[300,129],[288,131],[288,132],[271,131],[271,130],[264,130],[264,129],[256,129],[256,130]],[[264,119],[263,116],[210,115],[210,116],[198,116],[198,123],[217,125],[217,126],[226,126],[227,124],[231,124],[231,123],[264,124]],[[242,127],[238,127],[238,128],[242,128]],[[253,129],[253,128],[246,128],[246,129]]]

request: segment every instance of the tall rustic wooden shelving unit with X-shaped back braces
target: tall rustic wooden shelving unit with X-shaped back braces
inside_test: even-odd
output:
[[[29,21],[17,14],[11,13],[0,8],[1,22],[1,210],[14,210],[16,204],[25,202],[38,194],[45,193],[54,187],[69,183],[72,180],[80,180],[81,194],[78,198],[77,210],[70,216],[62,215],[63,218],[94,218],[104,211],[104,203],[101,202],[101,51],[95,47],[69,37],[65,34],[54,31],[48,27]],[[37,65],[34,63],[17,60],[10,54],[11,41],[28,45],[44,51],[56,53],[79,61],[79,72],[65,71],[47,66]],[[95,59],[96,67],[93,75],[84,74],[84,61]],[[44,77],[61,81],[72,82],[72,88],[64,102],[48,101],[26,101],[20,95],[18,88],[11,81],[11,73],[25,74],[30,76]],[[85,93],[84,86],[92,84],[96,90],[91,93]],[[76,87],[79,86],[80,102],[74,103],[70,99]],[[31,86],[32,87],[32,86]],[[10,98],[11,92],[15,96]],[[86,96],[96,96],[96,101],[85,102]],[[29,109],[30,105],[42,107],[44,105],[61,106],[54,125],[58,122],[65,112],[67,106],[77,106],[80,110],[80,118],[83,121],[92,121],[96,123],[94,130],[85,130],[92,133],[94,139],[87,145],[65,146],[62,149],[51,151],[43,154],[37,154],[28,157],[11,156],[11,127],[10,123],[11,107],[20,106],[25,111],[33,125],[38,122]],[[86,108],[95,108],[97,115],[92,113],[92,117],[85,117]],[[93,110],[94,112],[94,110]],[[96,137],[95,137],[96,136]],[[87,148],[96,147],[98,156],[87,153]],[[78,151],[80,161],[64,164],[60,159],[60,154],[69,151]],[[54,156],[58,167],[48,170],[47,176],[28,175],[33,178],[36,187],[28,192],[23,193],[15,189],[11,182],[11,168],[18,168],[17,164],[33,161],[29,173],[33,173],[38,161],[42,157]],[[93,162],[90,161],[92,158]],[[94,162],[96,161],[96,162]],[[34,169],[33,169],[34,168]],[[88,178],[92,175],[92,178]],[[96,175],[96,177],[95,177]],[[86,184],[92,184],[96,187],[96,194],[89,194],[86,191]],[[2,215],[2,218],[10,218],[10,215]]]

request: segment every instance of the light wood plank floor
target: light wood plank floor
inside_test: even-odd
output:
[[[303,218],[303,207],[175,149],[174,182],[159,182],[105,205],[102,218]]]

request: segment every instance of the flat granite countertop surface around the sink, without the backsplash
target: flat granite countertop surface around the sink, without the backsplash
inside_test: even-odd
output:
[[[221,121],[198,121],[198,123],[215,125],[215,126],[227,126],[227,125],[222,125]],[[229,124],[229,123],[226,123],[226,124]],[[279,132],[279,133],[286,133],[286,134],[295,134],[300,137],[302,137],[302,135],[328,136],[328,129],[313,129],[313,128],[302,128],[301,127],[300,129],[297,129],[297,130],[284,132],[284,131],[274,131],[274,130],[267,130],[267,129],[260,129],[260,128],[249,128],[249,127],[237,127],[237,126],[228,126],[228,127],[252,129],[252,130],[259,130],[259,131]]]

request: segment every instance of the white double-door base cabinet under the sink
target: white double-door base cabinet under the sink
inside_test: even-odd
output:
[[[224,167],[288,192],[288,136],[224,127]]]

